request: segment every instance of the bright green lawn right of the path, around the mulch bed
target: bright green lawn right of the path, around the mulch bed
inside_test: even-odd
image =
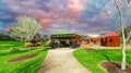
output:
[[[120,49],[99,49],[93,51],[78,49],[73,52],[73,56],[92,73],[106,73],[106,71],[100,66],[103,61],[121,61]],[[129,49],[127,50],[127,63],[131,64],[131,50]]]

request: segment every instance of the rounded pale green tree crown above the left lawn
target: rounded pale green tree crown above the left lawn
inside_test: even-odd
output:
[[[29,16],[16,17],[17,24],[10,28],[10,34],[19,40],[28,41],[40,31],[41,26],[35,19]]]

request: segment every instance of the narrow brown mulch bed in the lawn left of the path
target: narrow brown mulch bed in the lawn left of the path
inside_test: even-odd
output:
[[[9,60],[8,62],[23,61],[23,60],[26,60],[26,59],[34,58],[34,57],[36,57],[36,56],[37,56],[37,53],[35,53],[35,54],[22,56],[22,57],[17,57],[17,58],[11,59],[11,60]]]

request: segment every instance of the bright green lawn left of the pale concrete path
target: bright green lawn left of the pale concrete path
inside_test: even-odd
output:
[[[5,47],[9,45],[10,47]],[[0,46],[2,47],[2,49],[0,48],[0,73],[37,73],[48,52],[47,48],[34,48],[32,53],[38,53],[35,58],[17,62],[8,62],[10,59],[29,54],[26,48],[22,48],[23,45],[23,42],[19,41],[0,41]],[[10,52],[11,47],[17,47],[20,51]]]

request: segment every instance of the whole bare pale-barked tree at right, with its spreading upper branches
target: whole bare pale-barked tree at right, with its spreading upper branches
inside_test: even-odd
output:
[[[98,0],[94,0],[98,1]],[[102,3],[103,2],[103,3]],[[103,0],[100,1],[100,7],[106,7],[107,2],[109,3],[107,9],[99,10],[97,7],[92,8],[88,7],[88,9],[94,10],[95,12],[103,12],[103,15],[106,15],[108,19],[110,19],[115,24],[119,24],[120,31],[122,34],[122,46],[121,46],[121,52],[122,52],[122,63],[121,63],[121,70],[126,70],[126,42],[131,37],[131,31],[128,32],[127,38],[124,34],[124,26],[128,24],[129,19],[131,19],[131,0]],[[110,10],[110,11],[109,11]],[[117,19],[119,19],[119,21]]]

